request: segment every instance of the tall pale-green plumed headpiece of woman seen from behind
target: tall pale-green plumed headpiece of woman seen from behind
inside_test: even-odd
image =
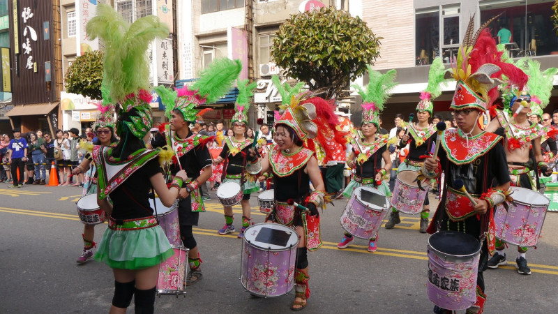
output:
[[[169,27],[153,15],[130,25],[111,6],[99,3],[86,31],[91,39],[98,37],[105,42],[103,67],[110,98],[123,112],[137,111],[130,115],[131,121],[116,124],[116,133],[122,134],[127,127],[136,137],[144,137],[153,125],[146,50],[154,39],[167,38]]]

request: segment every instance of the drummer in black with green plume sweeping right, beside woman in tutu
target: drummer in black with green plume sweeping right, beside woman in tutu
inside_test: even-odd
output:
[[[170,173],[176,174],[179,170],[188,173],[188,184],[184,184],[180,190],[179,201],[179,224],[182,243],[188,251],[188,264],[190,271],[186,276],[186,285],[193,285],[202,279],[197,242],[194,239],[192,227],[199,221],[199,213],[205,211],[199,186],[205,184],[211,177],[211,155],[207,149],[207,143],[211,137],[194,135],[190,130],[190,124],[197,119],[203,110],[196,109],[200,103],[213,103],[218,100],[220,90],[228,90],[241,70],[240,61],[229,59],[216,59],[211,66],[206,68],[200,75],[201,79],[196,81],[192,87],[183,87],[176,94],[169,93],[163,87],[157,87],[156,91],[161,96],[166,107],[167,117],[171,119],[167,126],[165,137],[158,134],[152,141],[153,147],[163,147],[165,144],[172,147],[174,154],[180,164],[173,163]],[[223,80],[212,80],[213,77],[222,75]],[[228,82],[227,82],[228,80]],[[215,86],[218,84],[218,86]],[[176,99],[174,99],[174,97]]]

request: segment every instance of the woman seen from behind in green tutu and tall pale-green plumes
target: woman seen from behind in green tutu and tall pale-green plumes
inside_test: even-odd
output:
[[[157,17],[142,17],[130,26],[110,6],[99,3],[86,32],[91,39],[100,37],[105,42],[105,82],[110,98],[121,106],[116,124],[121,142],[114,148],[93,148],[98,204],[110,215],[95,259],[107,263],[114,273],[110,313],[126,313],[134,296],[135,313],[153,313],[158,264],[172,256],[173,250],[153,216],[149,190],[153,187],[170,207],[187,179],[186,172],[180,171],[167,189],[156,160],[159,151],[145,149],[142,140],[153,125],[152,96],[145,89],[149,88],[145,52],[152,40],[166,38],[169,29]]]

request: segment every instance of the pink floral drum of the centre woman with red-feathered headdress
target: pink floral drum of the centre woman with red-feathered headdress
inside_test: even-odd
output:
[[[289,227],[259,223],[248,227],[242,242],[240,281],[257,297],[278,297],[294,287],[299,237]]]

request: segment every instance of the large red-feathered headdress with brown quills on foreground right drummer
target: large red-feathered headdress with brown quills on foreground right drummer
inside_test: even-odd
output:
[[[502,75],[521,88],[527,83],[527,75],[522,70],[502,61],[504,52],[497,50],[494,38],[486,29],[498,16],[485,22],[475,33],[474,15],[469,20],[458,56],[451,64],[453,78],[458,81],[450,105],[452,110],[490,110],[499,95],[497,86],[502,84]]]

